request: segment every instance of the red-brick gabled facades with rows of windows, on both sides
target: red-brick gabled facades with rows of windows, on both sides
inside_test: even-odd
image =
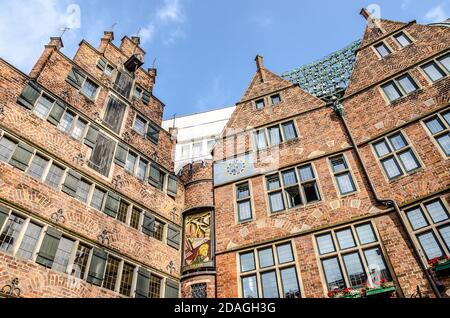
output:
[[[52,38],[29,75],[0,60],[0,288],[449,297],[450,263],[429,261],[450,256],[450,28],[361,13],[345,93],[257,56],[213,159],[176,176],[139,38],[73,60]]]

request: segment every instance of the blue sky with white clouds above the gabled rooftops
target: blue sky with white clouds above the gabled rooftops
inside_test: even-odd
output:
[[[280,74],[361,38],[359,11],[372,3],[398,21],[430,23],[450,12],[450,0],[0,0],[0,56],[28,73],[62,25],[73,26],[63,37],[69,57],[83,38],[97,47],[114,23],[117,44],[141,29],[145,67],[156,58],[154,93],[169,118],[236,103],[258,53]]]

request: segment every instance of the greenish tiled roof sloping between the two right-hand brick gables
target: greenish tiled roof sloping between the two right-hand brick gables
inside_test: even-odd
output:
[[[330,55],[281,74],[281,77],[299,84],[305,91],[320,98],[342,94],[348,86],[356,60],[356,49],[361,40]]]

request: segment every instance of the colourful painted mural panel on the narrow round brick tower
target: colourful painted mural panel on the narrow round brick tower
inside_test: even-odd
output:
[[[187,215],[184,219],[183,271],[212,267],[211,211]]]

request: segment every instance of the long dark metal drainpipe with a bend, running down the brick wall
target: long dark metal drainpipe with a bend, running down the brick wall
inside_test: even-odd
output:
[[[350,137],[350,142],[352,143],[352,146],[355,149],[356,156],[358,157],[358,161],[361,164],[361,167],[363,169],[364,175],[365,175],[365,177],[367,179],[367,182],[369,183],[370,190],[372,191],[372,193],[373,193],[373,195],[375,197],[375,200],[377,202],[379,202],[380,204],[386,206],[386,207],[393,207],[394,208],[395,212],[397,213],[398,217],[400,218],[400,222],[402,224],[403,230],[405,231],[408,239],[411,242],[411,246],[412,246],[412,249],[414,251],[413,254],[415,256],[416,261],[420,264],[420,267],[422,268],[422,271],[425,273],[425,276],[427,277],[427,280],[428,280],[428,282],[431,285],[431,289],[435,293],[436,297],[437,298],[442,298],[442,295],[441,295],[441,293],[439,292],[439,290],[438,290],[438,288],[436,286],[436,282],[434,281],[433,277],[431,277],[430,273],[428,272],[428,269],[426,268],[426,266],[422,262],[420,253],[417,250],[417,248],[416,248],[416,246],[415,246],[415,244],[413,242],[413,239],[411,237],[411,234],[408,231],[408,228],[406,226],[405,220],[403,218],[403,215],[402,215],[402,213],[400,211],[400,208],[399,208],[397,202],[395,200],[393,200],[393,199],[380,199],[378,197],[378,194],[377,194],[377,192],[375,190],[375,186],[373,185],[372,180],[370,179],[369,173],[368,173],[368,171],[366,169],[366,165],[364,164],[364,161],[363,161],[363,159],[361,157],[361,153],[359,152],[358,145],[356,144],[355,139],[353,138],[353,135],[352,135],[352,133],[350,131],[350,128],[347,125],[347,121],[345,120],[344,106],[341,104],[340,100],[337,97],[335,97],[335,96],[333,96],[332,101],[329,103],[329,106],[333,107],[333,109],[335,110],[337,116],[342,120],[342,123],[344,124],[345,131],[346,131],[347,135]]]

